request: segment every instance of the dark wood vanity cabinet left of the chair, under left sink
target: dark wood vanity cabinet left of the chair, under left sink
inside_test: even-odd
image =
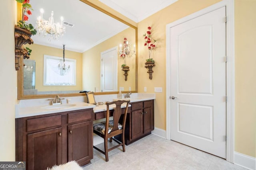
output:
[[[82,109],[16,119],[16,161],[27,170],[45,170],[70,160],[93,158],[93,110]]]

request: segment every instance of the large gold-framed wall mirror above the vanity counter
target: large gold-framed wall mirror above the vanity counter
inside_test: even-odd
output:
[[[28,16],[28,23],[36,26],[38,16],[45,20],[54,12],[54,23],[60,22],[63,16],[66,32],[58,40],[50,39],[39,34],[32,36],[34,44],[24,45],[32,50],[30,59],[21,59],[18,70],[18,99],[51,98],[60,96],[82,96],[84,91],[98,94],[116,94],[121,88],[124,92],[137,92],[137,54],[130,57],[120,57],[120,44],[124,38],[131,42],[132,49],[137,49],[137,27],[91,4],[87,0],[44,0],[30,1],[32,15]],[[44,13],[40,14],[40,9]],[[73,24],[70,27],[69,24]],[[65,50],[63,49],[65,45]],[[136,45],[136,47],[134,47]],[[114,51],[114,52],[113,52]],[[44,76],[46,60],[62,59],[76,63],[73,71],[75,84],[45,84]],[[110,54],[109,54],[110,53]],[[109,56],[114,56],[111,59]],[[50,56],[50,57],[49,57]],[[104,58],[106,57],[106,59]],[[128,78],[125,80],[122,64],[129,66]],[[58,71],[58,63],[51,67]],[[112,64],[111,67],[107,64]],[[111,69],[110,69],[111,68]],[[49,73],[48,73],[49,74]],[[106,74],[106,75],[104,75]],[[59,75],[62,76],[62,75]],[[68,76],[66,77],[68,79]],[[108,88],[104,84],[115,84]]]

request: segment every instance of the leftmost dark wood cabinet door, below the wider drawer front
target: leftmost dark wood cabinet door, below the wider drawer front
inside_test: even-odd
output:
[[[62,128],[27,135],[28,170],[46,170],[62,164]]]

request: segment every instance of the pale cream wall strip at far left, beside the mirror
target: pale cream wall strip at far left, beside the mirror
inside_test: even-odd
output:
[[[0,161],[15,161],[15,110],[17,72],[15,70],[14,24],[16,1],[4,0],[0,5]]]

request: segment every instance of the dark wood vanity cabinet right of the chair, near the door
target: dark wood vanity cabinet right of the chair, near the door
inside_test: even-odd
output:
[[[127,114],[125,127],[125,144],[151,134],[154,130],[154,100],[133,102],[131,112]]]

